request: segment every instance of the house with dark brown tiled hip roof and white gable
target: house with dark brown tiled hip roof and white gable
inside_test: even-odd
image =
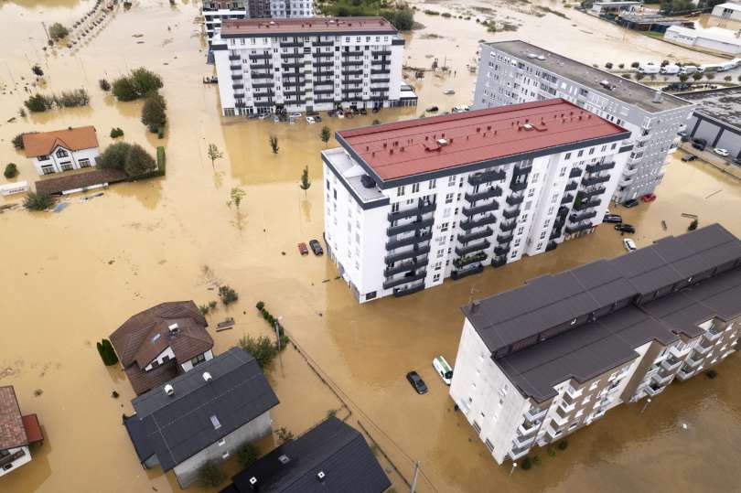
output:
[[[130,317],[111,344],[137,395],[213,358],[213,339],[192,301],[161,303]]]

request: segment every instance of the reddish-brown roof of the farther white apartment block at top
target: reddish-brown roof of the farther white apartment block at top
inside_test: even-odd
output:
[[[347,32],[396,33],[383,17],[304,17],[295,19],[224,19],[221,37],[276,36],[285,33],[334,35]]]

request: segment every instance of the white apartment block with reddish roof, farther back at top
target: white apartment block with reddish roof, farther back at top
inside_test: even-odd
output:
[[[381,17],[225,21],[212,47],[222,112],[416,104],[401,96],[403,47]]]

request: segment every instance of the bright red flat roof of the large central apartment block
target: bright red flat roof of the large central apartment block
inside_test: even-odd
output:
[[[530,125],[530,129],[528,129]],[[382,180],[575,144],[628,131],[561,99],[338,132]],[[446,139],[446,145],[437,145]]]

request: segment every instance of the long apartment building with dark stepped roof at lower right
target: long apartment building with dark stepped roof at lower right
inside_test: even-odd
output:
[[[736,350],[741,241],[718,224],[463,309],[450,396],[501,464]]]

